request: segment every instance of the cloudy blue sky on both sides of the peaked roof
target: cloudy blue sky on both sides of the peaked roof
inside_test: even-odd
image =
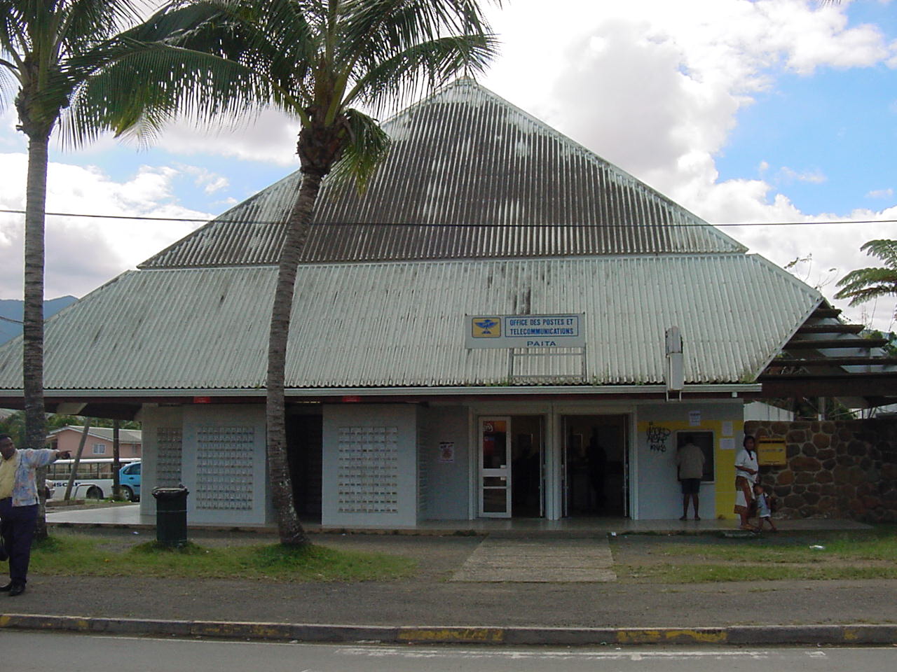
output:
[[[849,307],[836,282],[897,237],[897,0],[504,0],[479,81],[893,331],[894,300]],[[553,11],[546,12],[546,6]],[[26,142],[0,114],[0,209],[25,204]],[[152,148],[51,145],[48,211],[211,218],[297,168],[274,111]],[[880,223],[845,223],[879,220]],[[816,222],[840,223],[816,223]],[[775,222],[800,222],[779,226]],[[82,297],[200,223],[48,217],[46,295]],[[22,296],[21,215],[0,213],[0,298]],[[758,316],[762,317],[762,316]]]

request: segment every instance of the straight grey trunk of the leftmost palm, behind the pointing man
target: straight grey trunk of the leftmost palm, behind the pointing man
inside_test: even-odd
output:
[[[47,205],[49,134],[28,134],[28,184],[25,191],[24,326],[22,385],[26,448],[42,448],[47,438],[44,414],[44,213]],[[44,470],[38,477],[40,506],[36,538],[47,537]]]

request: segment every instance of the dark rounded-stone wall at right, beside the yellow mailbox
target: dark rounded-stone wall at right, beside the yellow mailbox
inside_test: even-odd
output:
[[[897,521],[897,420],[751,420],[745,434],[786,443],[788,463],[760,470],[778,517]]]

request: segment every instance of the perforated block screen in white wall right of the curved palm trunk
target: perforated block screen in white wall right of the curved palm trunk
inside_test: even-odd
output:
[[[337,511],[397,513],[398,427],[341,426],[337,452]]]

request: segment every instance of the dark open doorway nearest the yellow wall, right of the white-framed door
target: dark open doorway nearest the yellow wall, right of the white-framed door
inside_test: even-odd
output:
[[[566,416],[563,427],[564,515],[627,515],[627,417]]]

